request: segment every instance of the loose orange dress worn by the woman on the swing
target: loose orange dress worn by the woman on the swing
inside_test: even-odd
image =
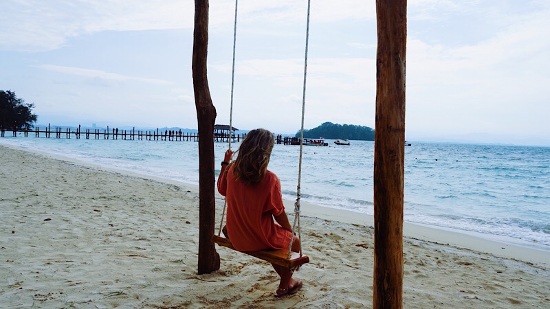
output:
[[[281,181],[267,170],[257,185],[237,181],[230,166],[227,177],[218,179],[218,191],[228,203],[227,229],[233,247],[239,251],[288,248],[290,232],[278,225],[273,216],[285,211]]]

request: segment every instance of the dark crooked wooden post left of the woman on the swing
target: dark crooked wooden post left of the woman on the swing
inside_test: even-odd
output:
[[[216,108],[206,76],[208,55],[208,0],[195,0],[192,75],[199,128],[199,275],[219,269],[219,254],[212,242],[216,218],[214,190],[214,122]]]

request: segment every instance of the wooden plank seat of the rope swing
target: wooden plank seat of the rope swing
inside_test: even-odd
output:
[[[229,238],[225,238],[222,236],[214,235],[212,236],[212,241],[219,244],[221,247],[226,247],[229,249],[232,249],[234,251],[236,250],[233,247],[233,244],[229,240]],[[288,259],[288,250],[287,249],[279,249],[279,250],[259,250],[259,251],[239,251],[248,255],[252,255],[256,258],[259,258],[260,260],[264,260],[267,262],[270,262],[272,264],[285,266],[289,269],[296,268],[300,265],[309,263],[309,257],[307,255],[302,255],[300,257],[300,253],[292,251],[290,254],[290,258]]]

